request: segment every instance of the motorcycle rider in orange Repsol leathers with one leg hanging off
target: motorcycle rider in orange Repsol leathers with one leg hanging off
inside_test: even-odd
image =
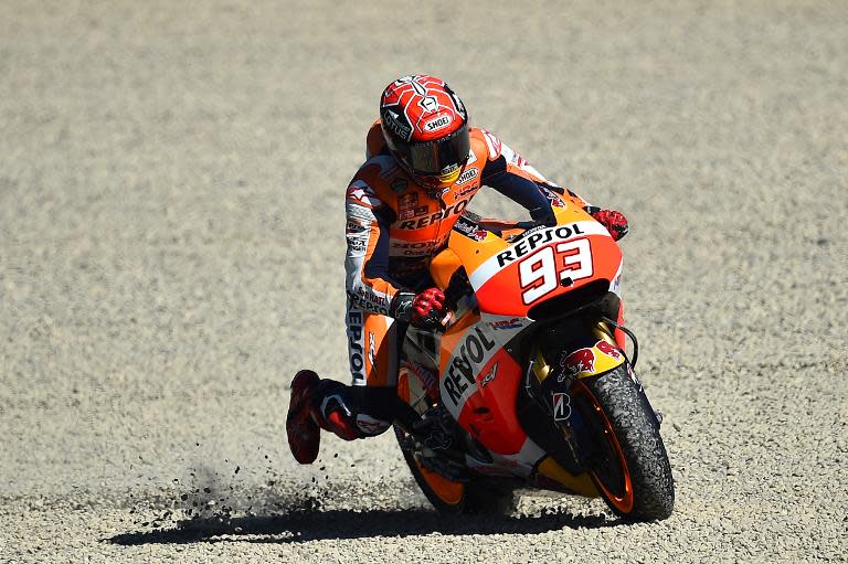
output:
[[[375,436],[417,415],[398,397],[406,327],[435,329],[445,296],[428,275],[457,219],[487,185],[555,223],[551,205],[570,198],[614,238],[627,220],[545,179],[496,136],[470,127],[459,97],[428,75],[392,82],[367,136],[367,159],[346,193],[346,324],[352,384],[301,370],[292,382],[286,430],[295,459],[318,456],[320,429],[346,440]]]

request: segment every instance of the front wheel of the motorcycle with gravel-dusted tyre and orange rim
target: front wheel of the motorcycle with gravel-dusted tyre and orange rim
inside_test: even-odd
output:
[[[675,483],[659,425],[626,365],[577,380],[572,400],[584,422],[586,460],[604,501],[633,521],[666,519]]]

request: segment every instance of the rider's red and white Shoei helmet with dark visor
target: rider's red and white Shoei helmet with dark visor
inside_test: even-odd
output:
[[[468,113],[444,81],[425,74],[398,78],[380,97],[389,150],[414,180],[444,190],[468,161]]]

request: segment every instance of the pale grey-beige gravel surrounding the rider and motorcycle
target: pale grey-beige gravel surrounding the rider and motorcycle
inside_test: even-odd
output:
[[[848,3],[0,3],[0,562],[845,561]],[[412,72],[630,219],[670,519],[445,519],[389,434],[288,454]]]

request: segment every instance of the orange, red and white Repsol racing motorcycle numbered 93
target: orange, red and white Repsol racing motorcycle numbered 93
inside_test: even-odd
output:
[[[623,326],[621,249],[584,210],[551,198],[555,225],[470,212],[454,225],[431,263],[446,327],[410,327],[403,341],[398,393],[420,419],[395,424],[398,443],[439,511],[502,510],[530,488],[665,519],[674,480]]]

